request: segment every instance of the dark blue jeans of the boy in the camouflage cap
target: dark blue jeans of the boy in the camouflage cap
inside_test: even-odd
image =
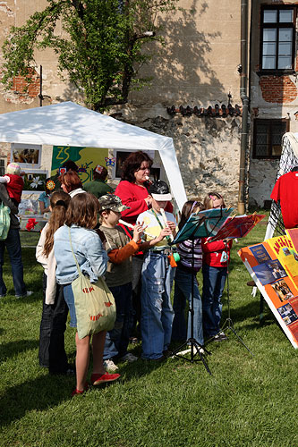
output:
[[[132,283],[110,287],[115,298],[116,319],[112,331],[106,333],[104,360],[121,358],[127,354],[130,339],[130,313],[132,308]]]

